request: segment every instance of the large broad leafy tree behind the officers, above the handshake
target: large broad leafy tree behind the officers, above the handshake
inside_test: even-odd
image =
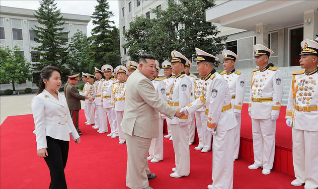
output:
[[[226,37],[217,36],[218,28],[205,21],[205,10],[215,5],[214,0],[167,1],[165,10],[152,9],[156,18],[136,17],[124,34],[128,56],[151,53],[159,62],[170,60],[170,52],[177,50],[188,59],[195,58],[195,47],[217,55],[224,49]]]

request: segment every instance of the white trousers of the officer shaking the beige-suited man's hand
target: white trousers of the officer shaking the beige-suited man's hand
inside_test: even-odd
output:
[[[212,180],[214,189],[233,189],[234,128],[213,136]]]

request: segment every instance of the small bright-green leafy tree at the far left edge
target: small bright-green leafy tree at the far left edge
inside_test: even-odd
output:
[[[19,51],[20,48],[17,46],[13,48],[13,52],[8,46],[0,49],[0,83],[10,82],[13,91],[15,91],[14,84],[32,79],[31,63],[26,61],[24,56],[19,55]]]

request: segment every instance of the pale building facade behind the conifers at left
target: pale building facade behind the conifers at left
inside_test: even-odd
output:
[[[36,35],[32,28],[39,26],[34,14],[35,10],[14,8],[8,6],[0,6],[0,48],[8,46],[13,49],[16,45],[20,48],[21,55],[24,55],[25,59],[31,63],[38,60],[39,57],[31,55],[34,52],[34,47],[40,44],[35,41]],[[64,37],[71,37],[77,30],[87,34],[87,24],[91,17],[87,15],[62,13],[64,29]],[[67,33],[69,32],[69,33]],[[26,81],[24,84],[15,84],[16,91],[23,91],[25,88],[37,89],[36,84],[32,81]],[[0,85],[0,90],[3,92],[6,89],[12,89],[11,83],[5,83]]]

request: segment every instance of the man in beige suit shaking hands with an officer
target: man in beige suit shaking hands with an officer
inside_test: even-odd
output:
[[[153,179],[148,168],[148,151],[152,138],[158,137],[158,111],[172,119],[182,117],[180,108],[169,106],[159,99],[150,81],[156,71],[156,58],[144,54],[139,59],[139,68],[129,76],[126,84],[125,112],[121,123],[127,144],[126,186],[131,189],[152,189],[148,179]]]

